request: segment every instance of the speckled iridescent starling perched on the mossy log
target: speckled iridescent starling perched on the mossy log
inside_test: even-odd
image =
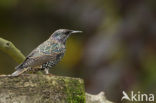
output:
[[[35,48],[25,59],[18,65],[12,76],[18,76],[26,71],[44,70],[49,74],[49,68],[55,66],[66,51],[66,40],[72,33],[81,33],[82,31],[59,29],[56,30],[48,40]]]

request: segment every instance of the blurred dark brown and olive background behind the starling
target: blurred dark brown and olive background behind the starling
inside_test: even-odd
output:
[[[120,102],[123,90],[156,94],[155,18],[155,0],[0,0],[0,37],[28,55],[56,29],[82,30],[51,72]],[[16,65],[0,51],[0,74]]]

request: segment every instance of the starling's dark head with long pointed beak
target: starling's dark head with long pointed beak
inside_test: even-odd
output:
[[[67,38],[72,34],[72,33],[81,33],[82,31],[77,31],[77,30],[69,30],[69,29],[59,29],[56,30],[52,35],[51,39],[56,39],[59,40],[63,43],[66,42]]]

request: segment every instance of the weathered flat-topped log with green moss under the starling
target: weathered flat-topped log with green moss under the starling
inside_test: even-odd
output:
[[[85,103],[84,82],[42,74],[1,75],[0,103]]]

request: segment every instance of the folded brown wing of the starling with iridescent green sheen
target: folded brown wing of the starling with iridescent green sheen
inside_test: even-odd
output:
[[[62,54],[62,50],[58,49],[57,46],[58,45],[56,43],[49,44],[48,41],[43,42],[27,56],[22,64],[17,66],[15,69],[35,67],[48,61],[56,60],[56,58]]]

